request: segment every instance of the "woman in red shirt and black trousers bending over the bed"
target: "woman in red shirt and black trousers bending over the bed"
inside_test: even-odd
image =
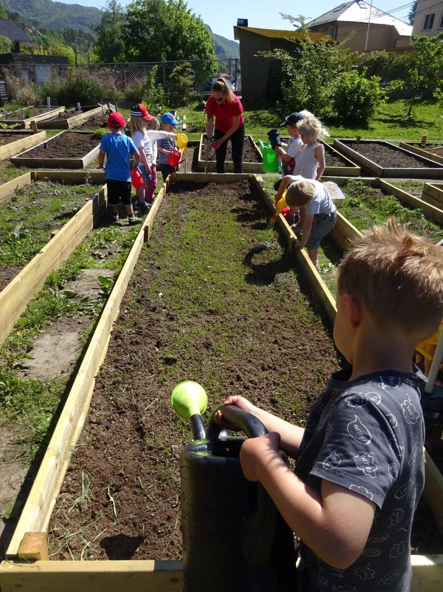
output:
[[[243,146],[245,144],[243,105],[224,78],[219,78],[214,82],[211,93],[205,107],[208,116],[208,123],[206,124],[207,150],[209,152],[213,141],[217,143],[217,173],[224,173],[227,140],[230,138],[234,172],[241,173],[243,172]],[[216,118],[216,128],[213,137],[214,116]]]

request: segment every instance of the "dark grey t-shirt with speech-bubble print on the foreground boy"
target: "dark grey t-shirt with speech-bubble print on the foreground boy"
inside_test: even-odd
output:
[[[423,375],[387,371],[348,381],[332,375],[314,403],[296,458],[296,474],[314,490],[322,479],[376,505],[364,551],[338,570],[301,543],[301,589],[327,592],[409,590],[410,531],[424,484]]]

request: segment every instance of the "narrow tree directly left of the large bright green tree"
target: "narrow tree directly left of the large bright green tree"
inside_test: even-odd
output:
[[[94,54],[101,62],[123,62],[126,59],[125,30],[126,14],[117,0],[108,0],[103,9],[101,22],[95,28],[97,44]],[[95,60],[94,60],[95,61]]]

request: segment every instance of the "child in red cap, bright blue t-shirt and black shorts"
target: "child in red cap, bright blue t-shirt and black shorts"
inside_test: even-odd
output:
[[[134,142],[122,134],[126,121],[121,113],[110,113],[108,128],[111,134],[105,134],[101,139],[98,152],[98,168],[103,168],[106,155],[105,179],[108,188],[108,202],[113,210],[113,220],[117,221],[118,204],[124,205],[128,215],[129,224],[138,224],[141,220],[134,216],[131,201],[131,169],[129,165],[130,154],[134,155],[134,168],[139,166],[140,153]]]

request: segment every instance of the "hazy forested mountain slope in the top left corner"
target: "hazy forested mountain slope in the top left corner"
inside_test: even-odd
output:
[[[24,20],[46,29],[77,28],[91,32],[98,25],[101,11],[79,4],[63,4],[52,0],[3,0],[7,11],[18,12]]]

